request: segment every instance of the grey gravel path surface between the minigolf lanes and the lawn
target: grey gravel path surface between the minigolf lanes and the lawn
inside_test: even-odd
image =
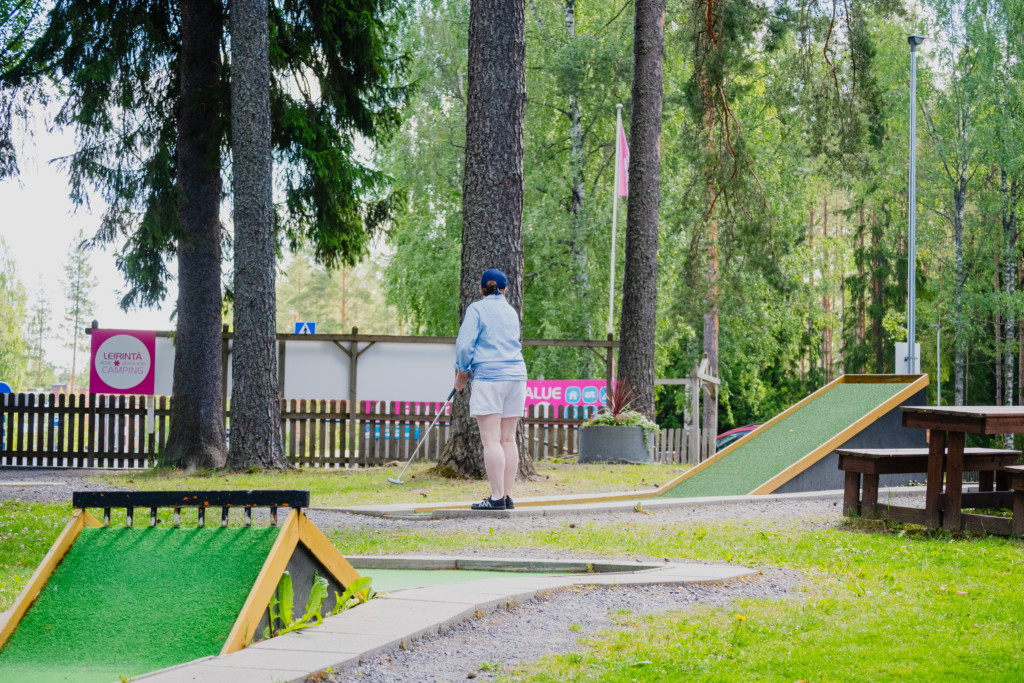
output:
[[[72,490],[110,488],[86,479],[80,470],[0,470],[0,501],[68,501]],[[59,481],[57,485],[3,485],[17,482]],[[127,483],[127,481],[126,481]],[[894,501],[895,502],[895,501]],[[900,499],[901,505],[922,505],[921,497]],[[411,521],[312,510],[310,518],[323,530],[359,528],[367,531],[415,528],[434,532],[494,530],[535,531],[583,524],[693,524],[743,520],[755,527],[835,528],[843,520],[839,500],[764,501],[740,505],[701,505],[658,509],[654,514],[634,511],[580,513],[545,517],[514,515],[505,518],[460,518]],[[423,553],[428,554],[428,553]],[[467,550],[467,555],[505,557],[579,557],[550,549]],[[592,559],[592,558],[591,558]],[[611,553],[604,559],[692,561]],[[722,607],[742,597],[799,599],[804,577],[793,569],[762,568],[755,577],[724,584],[645,586],[561,590],[517,605],[500,608],[444,631],[337,672],[335,683],[439,683],[467,679],[490,680],[518,661],[583,647],[581,639],[617,628],[623,615],[641,615],[694,605]]]

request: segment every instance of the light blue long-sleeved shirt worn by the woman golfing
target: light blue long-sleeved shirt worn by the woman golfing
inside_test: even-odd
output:
[[[503,295],[474,301],[459,328],[455,367],[472,371],[474,382],[525,381],[519,334],[519,315]]]

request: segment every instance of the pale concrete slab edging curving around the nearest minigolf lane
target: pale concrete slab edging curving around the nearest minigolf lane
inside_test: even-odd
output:
[[[398,562],[398,566],[410,568],[483,568],[483,563],[488,562],[479,557],[349,558],[356,567],[366,565],[362,560],[373,560],[377,566],[381,566],[389,559]],[[444,566],[438,567],[438,561],[443,562]],[[515,562],[508,558],[490,560],[487,568],[509,567]],[[558,560],[537,559],[518,562],[525,566],[545,567],[559,563]],[[580,561],[574,563],[579,564]],[[591,564],[600,567],[601,560],[595,560]],[[391,563],[389,566],[396,565]],[[329,668],[338,670],[354,666],[382,651],[434,634],[480,612],[509,603],[524,602],[546,591],[570,586],[722,582],[757,573],[753,569],[728,565],[665,563],[641,566],[644,568],[614,573],[510,573],[508,578],[458,584],[457,588],[450,584],[393,591],[335,616],[329,616],[319,626],[271,638],[239,652],[197,659],[132,680],[152,683],[304,681],[308,676]]]

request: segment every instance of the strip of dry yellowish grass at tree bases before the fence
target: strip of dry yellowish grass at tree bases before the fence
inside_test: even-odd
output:
[[[309,489],[316,506],[473,501],[487,493],[485,482],[444,479],[431,473],[432,467],[431,463],[413,463],[402,477],[404,484],[387,481],[401,471],[397,467],[302,469],[285,474],[210,471],[189,475],[178,470],[144,470],[104,474],[100,479],[141,490],[302,488]],[[536,467],[535,479],[516,483],[516,497],[646,490],[688,469],[679,465],[577,465],[551,461],[538,462]]]

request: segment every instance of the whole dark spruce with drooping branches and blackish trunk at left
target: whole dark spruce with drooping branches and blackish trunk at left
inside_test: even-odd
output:
[[[282,162],[282,240],[352,263],[395,199],[387,176],[358,161],[357,139],[397,122],[406,88],[393,49],[393,0],[285,0],[269,7],[271,143]],[[0,83],[28,87],[51,73],[73,126],[73,199],[91,188],[109,209],[96,242],[117,243],[129,282],[123,307],[160,302],[178,261],[177,353],[165,460],[223,464],[220,366],[221,168],[229,88],[218,1],[59,2],[45,33]]]

